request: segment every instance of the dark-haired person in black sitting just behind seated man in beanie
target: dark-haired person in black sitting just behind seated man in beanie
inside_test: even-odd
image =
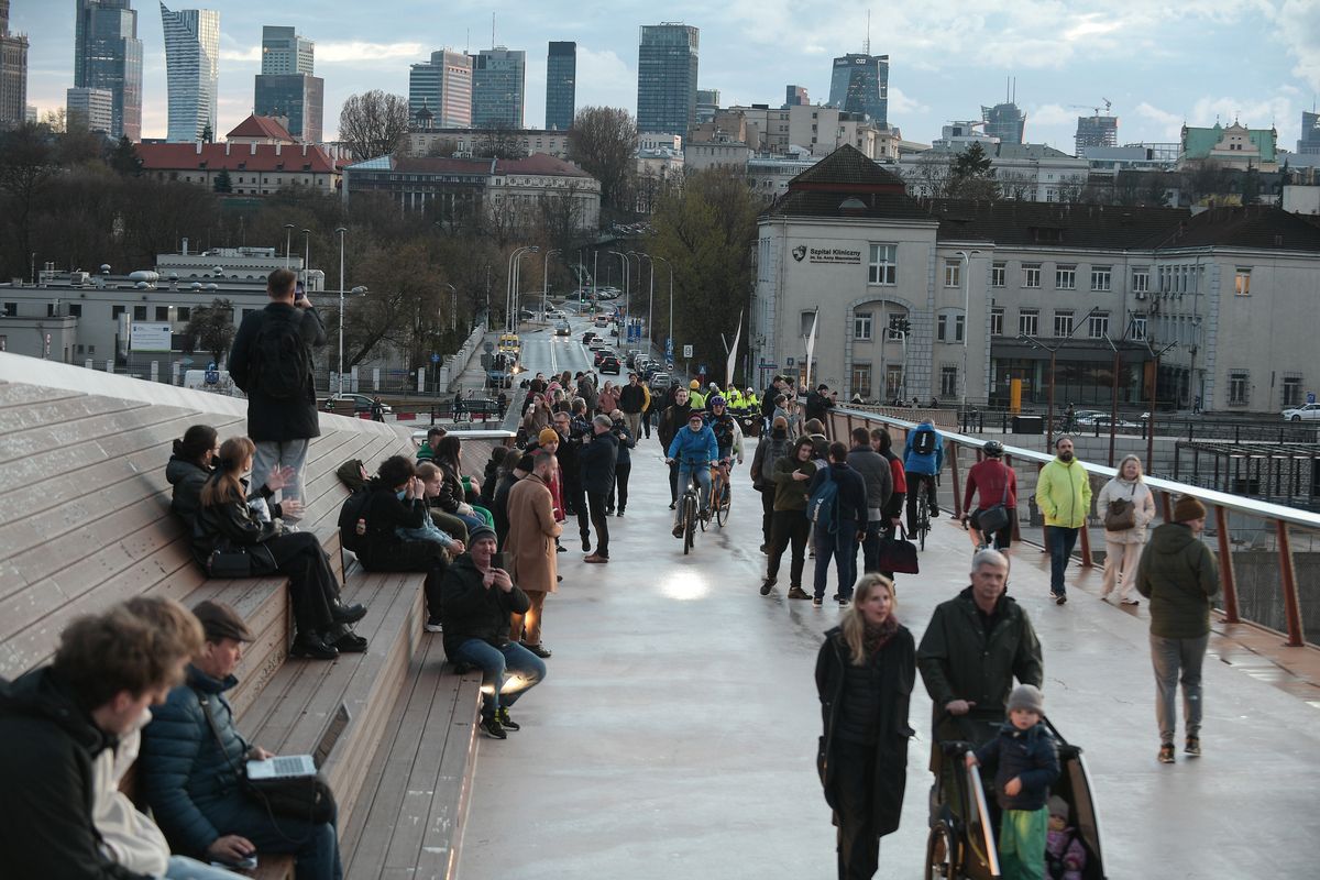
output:
[[[440,579],[449,567],[445,546],[438,541],[403,537],[408,529],[421,529],[426,524],[425,486],[411,459],[391,455],[376,468],[368,488],[371,496],[363,508],[367,536],[358,561],[368,571],[425,571],[426,631],[437,632]],[[462,544],[449,546],[462,548]]]

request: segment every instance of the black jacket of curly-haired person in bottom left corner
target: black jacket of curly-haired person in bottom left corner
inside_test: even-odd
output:
[[[112,744],[50,668],[0,681],[4,876],[149,880],[100,854],[92,761]]]

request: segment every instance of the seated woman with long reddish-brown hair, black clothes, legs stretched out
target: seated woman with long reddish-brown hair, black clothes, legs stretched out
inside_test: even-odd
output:
[[[231,437],[220,445],[215,471],[199,495],[194,554],[210,561],[218,549],[246,548],[253,577],[288,575],[297,629],[292,656],[334,660],[339,652],[366,650],[367,640],[348,624],[362,620],[367,610],[339,602],[339,582],[317,536],[263,522],[248,507],[244,476],[252,472],[255,453],[247,437]]]

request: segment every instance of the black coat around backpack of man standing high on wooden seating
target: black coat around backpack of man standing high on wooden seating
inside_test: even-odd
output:
[[[261,393],[257,377],[252,375],[252,348],[261,329],[275,321],[292,322],[298,327],[304,355],[308,359],[308,387],[300,401],[273,400]],[[317,392],[313,385],[312,350],[326,344],[326,329],[314,307],[298,309],[282,302],[271,302],[253,311],[239,326],[230,351],[230,376],[248,396],[248,437],[253,441],[308,439],[321,435],[317,421]]]

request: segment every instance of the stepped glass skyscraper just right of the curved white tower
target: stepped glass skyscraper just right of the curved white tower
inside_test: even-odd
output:
[[[261,73],[256,77],[252,112],[282,116],[285,128],[301,141],[321,141],[325,80],[314,77],[315,44],[293,28],[261,29]]]

